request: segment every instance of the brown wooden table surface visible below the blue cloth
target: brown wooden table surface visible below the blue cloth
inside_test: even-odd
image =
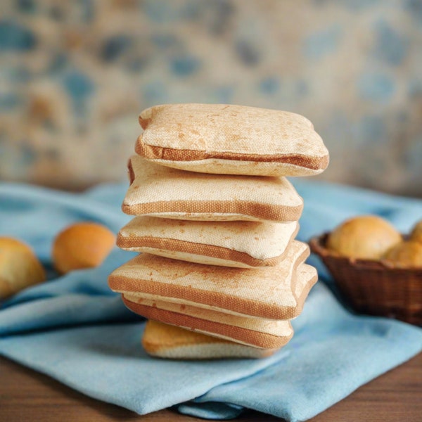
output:
[[[162,410],[146,416],[100,402],[0,357],[0,421],[115,422],[203,419]],[[281,421],[248,411],[238,422]],[[363,385],[341,402],[312,418],[312,422],[421,422],[422,354]]]

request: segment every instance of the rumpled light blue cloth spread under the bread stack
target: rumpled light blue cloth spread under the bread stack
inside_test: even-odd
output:
[[[298,238],[328,231],[347,217],[377,214],[400,231],[422,218],[422,200],[293,179],[305,200]],[[319,270],[290,343],[267,359],[184,362],[153,359],[141,347],[143,319],[107,285],[110,271],[134,256],[115,248],[101,267],[58,276],[51,266],[54,236],[68,224],[96,221],[117,231],[131,217],[120,204],[126,184],[82,194],[24,184],[0,184],[0,236],[29,243],[49,281],[0,304],[0,354],[49,374],[86,395],[139,414],[175,407],[202,418],[234,418],[256,409],[305,421],[360,385],[422,350],[422,329],[357,316],[333,295]]]

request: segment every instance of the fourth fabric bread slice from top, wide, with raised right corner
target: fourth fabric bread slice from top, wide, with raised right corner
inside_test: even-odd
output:
[[[174,302],[260,318],[290,319],[301,305],[293,294],[292,279],[308,255],[305,243],[293,241],[276,266],[242,269],[143,253],[115,269],[108,283],[118,293],[146,293],[150,298],[170,297]]]

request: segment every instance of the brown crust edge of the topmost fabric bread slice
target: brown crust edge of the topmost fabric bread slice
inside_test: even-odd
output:
[[[223,151],[197,151],[188,149],[165,148],[162,146],[148,145],[143,143],[142,135],[138,137],[135,152],[147,160],[167,161],[198,161],[198,160],[233,160],[252,162],[276,162],[281,164],[297,165],[310,170],[325,170],[328,167],[329,155],[321,157],[305,154],[243,154]]]

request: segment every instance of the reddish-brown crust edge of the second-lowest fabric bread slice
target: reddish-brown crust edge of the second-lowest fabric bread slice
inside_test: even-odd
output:
[[[212,333],[224,335],[226,338],[232,338],[234,340],[247,343],[248,345],[263,349],[275,349],[281,347],[288,343],[290,338],[293,336],[293,331],[288,336],[279,337],[277,335],[248,330],[247,328],[231,326],[229,324],[222,324],[215,321],[207,321],[206,319],[199,319],[195,316],[178,314],[177,312],[166,311],[156,307],[140,305],[139,303],[130,302],[124,298],[123,295],[122,300],[124,305],[132,310],[132,312],[145,316],[148,319],[155,319],[156,321],[161,321],[165,324],[186,327],[193,331],[205,331],[206,333],[210,333],[210,335],[212,335]]]

